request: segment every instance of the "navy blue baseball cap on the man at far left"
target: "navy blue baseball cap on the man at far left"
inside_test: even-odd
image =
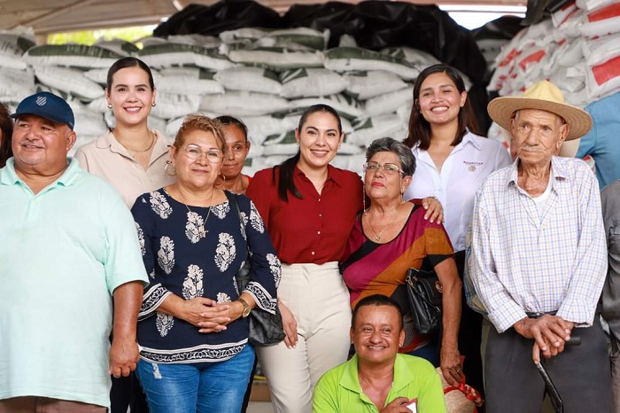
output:
[[[17,110],[10,116],[14,119],[22,114],[35,114],[50,121],[65,123],[74,130],[75,118],[71,106],[65,99],[50,92],[39,92],[26,97],[19,102]]]

